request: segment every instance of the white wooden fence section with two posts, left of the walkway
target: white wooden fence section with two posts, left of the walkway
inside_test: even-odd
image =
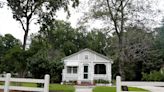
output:
[[[49,80],[50,76],[45,75],[44,79],[30,79],[30,78],[11,78],[11,74],[7,73],[6,77],[0,77],[0,81],[4,81],[5,84],[0,86],[4,92],[9,92],[9,90],[19,90],[19,91],[39,91],[39,92],[49,92]],[[26,82],[26,83],[41,83],[44,84],[43,88],[39,87],[22,87],[22,86],[11,86],[10,82]]]

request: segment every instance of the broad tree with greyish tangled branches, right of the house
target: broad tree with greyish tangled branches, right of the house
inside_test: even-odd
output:
[[[114,36],[113,40],[111,49],[114,49],[114,52],[117,53],[115,48],[118,39]],[[125,80],[140,81],[143,72],[149,73],[161,68],[163,63],[161,54],[156,49],[154,32],[146,32],[138,27],[129,27],[124,32],[123,42],[126,44],[123,48],[125,53],[123,67]],[[117,63],[113,66],[117,66]]]

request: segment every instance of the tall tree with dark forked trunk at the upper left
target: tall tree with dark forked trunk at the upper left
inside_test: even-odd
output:
[[[78,0],[71,0],[72,6],[78,5]],[[30,23],[35,16],[40,19],[46,14],[54,18],[56,11],[64,8],[69,13],[67,0],[7,0],[8,6],[11,8],[13,18],[19,21],[24,31],[23,50],[26,48],[26,40],[30,30]]]

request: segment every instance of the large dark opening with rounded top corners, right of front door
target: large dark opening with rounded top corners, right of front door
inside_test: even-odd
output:
[[[95,74],[106,74],[106,66],[105,66],[105,64],[96,64],[94,66],[94,73]]]

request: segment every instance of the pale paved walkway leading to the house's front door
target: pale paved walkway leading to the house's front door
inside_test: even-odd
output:
[[[75,92],[92,92],[92,86],[75,86]]]

